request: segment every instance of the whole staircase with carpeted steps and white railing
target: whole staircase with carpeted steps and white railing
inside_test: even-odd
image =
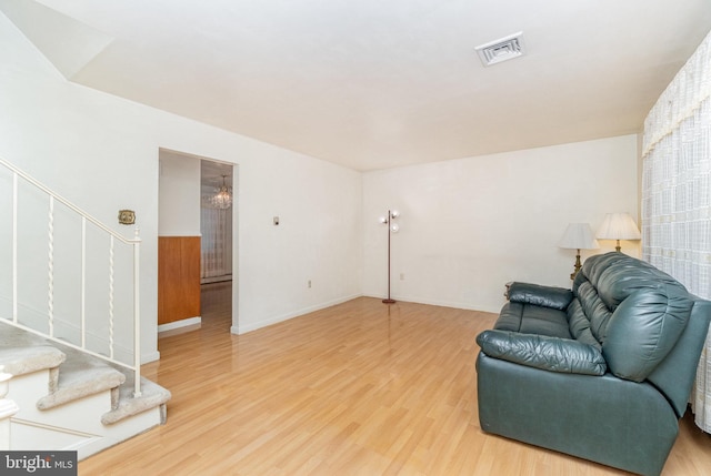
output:
[[[0,229],[0,251],[11,255],[0,269],[12,275],[0,278],[0,449],[77,450],[83,459],[164,424],[170,392],[140,375],[138,231],[127,240],[2,158],[0,165],[0,185],[12,191],[9,204],[0,202],[0,222],[11,224]],[[36,207],[47,200],[43,222],[19,216],[29,206],[22,200]],[[41,266],[31,247],[39,230]],[[98,265],[97,255],[104,257]]]

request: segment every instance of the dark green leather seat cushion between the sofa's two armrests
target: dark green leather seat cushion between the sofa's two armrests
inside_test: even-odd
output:
[[[504,304],[494,328],[550,337],[572,337],[564,311],[524,303]]]

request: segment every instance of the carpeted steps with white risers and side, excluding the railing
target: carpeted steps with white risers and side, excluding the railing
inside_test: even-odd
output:
[[[7,338],[4,326],[0,332]],[[12,348],[6,338],[0,365],[13,374],[6,398],[19,407],[10,418],[10,449],[77,450],[83,459],[166,422],[170,392],[163,387],[141,378],[141,396],[133,398],[132,373],[61,344]]]

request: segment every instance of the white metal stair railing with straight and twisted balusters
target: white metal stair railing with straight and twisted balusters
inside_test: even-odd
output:
[[[84,212],[83,210],[81,210],[80,207],[76,206],[74,204],[72,204],[71,202],[69,202],[68,200],[63,199],[61,195],[54,193],[53,191],[51,191],[50,189],[48,189],[47,186],[44,186],[43,184],[41,184],[40,182],[38,182],[37,180],[34,180],[33,178],[31,178],[30,175],[28,175],[27,173],[24,173],[23,171],[21,171],[20,169],[16,168],[14,165],[12,165],[10,162],[6,161],[4,159],[0,158],[0,165],[2,165],[4,169],[9,170],[10,173],[12,174],[12,199],[11,199],[11,249],[12,249],[12,288],[11,288],[11,303],[12,303],[12,317],[11,320],[6,318],[4,316],[0,316],[0,318],[3,318],[6,322],[11,322],[12,325],[23,328],[28,332],[41,335],[46,338],[50,338],[57,342],[60,342],[62,345],[68,345],[70,347],[80,350],[82,352],[89,353],[91,355],[94,355],[96,357],[99,357],[103,361],[117,364],[121,367],[128,368],[129,371],[132,371],[136,374],[134,377],[134,388],[133,388],[133,395],[136,397],[141,395],[141,384],[140,384],[140,373],[141,373],[141,356],[140,356],[140,305],[139,305],[139,270],[140,270],[140,244],[141,244],[141,239],[139,237],[139,230],[138,227],[136,229],[136,234],[133,239],[126,239],[123,236],[121,236],[120,234],[118,234],[117,232],[114,232],[113,230],[109,229],[108,226],[106,226],[104,224],[102,224],[100,221],[98,221],[97,219],[92,217],[91,215],[89,215],[87,212]],[[36,190],[39,190],[40,192],[42,192],[44,195],[47,195],[48,198],[48,217],[47,217],[47,230],[48,230],[48,251],[47,251],[47,277],[48,277],[48,301],[47,301],[47,328],[48,331],[41,331],[31,326],[28,326],[23,323],[20,322],[20,312],[19,312],[19,307],[20,307],[20,303],[19,303],[19,290],[21,285],[28,285],[28,286],[32,286],[34,285],[34,283],[20,283],[20,278],[19,278],[19,270],[20,266],[22,265],[22,263],[19,262],[19,254],[18,254],[18,244],[19,244],[19,236],[18,236],[18,220],[19,220],[19,215],[18,215],[18,203],[19,203],[19,184],[20,184],[20,180],[22,180],[24,183],[30,184],[32,188],[34,188]],[[71,342],[67,342],[64,340],[58,338],[58,336],[54,335],[54,240],[56,240],[56,203],[61,203],[63,206],[66,206],[70,213],[76,214],[78,216],[81,217],[81,259],[80,259],[80,273],[81,273],[81,280],[80,280],[80,284],[79,286],[81,287],[80,290],[80,317],[79,317],[79,328],[80,328],[80,342],[78,344],[73,344]],[[0,211],[0,213],[2,213]],[[1,215],[0,215],[1,216]],[[106,342],[108,342],[108,353],[109,355],[103,355],[102,353],[99,353],[97,351],[93,351],[92,348],[89,347],[89,345],[87,344],[87,328],[88,328],[88,322],[87,322],[87,285],[88,285],[88,280],[87,280],[87,265],[88,265],[88,243],[87,243],[87,226],[91,226],[93,230],[99,231],[102,234],[106,234],[109,237],[109,250],[107,251],[107,272],[108,272],[108,278],[109,278],[109,290],[108,290],[108,321],[109,321],[109,325],[108,325],[108,335],[101,337],[102,340],[104,340]],[[122,362],[120,359],[118,359],[116,357],[116,342],[114,342],[114,331],[116,331],[116,326],[117,326],[117,320],[114,316],[114,271],[116,271],[116,264],[114,264],[114,246],[116,244],[123,244],[127,246],[132,247],[132,273],[130,276],[130,280],[132,281],[131,283],[131,287],[132,287],[132,300],[133,300],[133,306],[131,310],[131,314],[132,314],[132,318],[130,320],[130,322],[126,322],[128,321],[128,318],[122,320],[119,324],[121,325],[132,325],[132,343],[131,343],[131,347],[132,347],[132,357],[131,357],[131,363],[127,363],[127,362]]]

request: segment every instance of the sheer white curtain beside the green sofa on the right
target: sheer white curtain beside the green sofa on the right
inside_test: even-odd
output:
[[[711,300],[711,33],[644,121],[642,257]],[[711,432],[711,333],[692,393]]]

